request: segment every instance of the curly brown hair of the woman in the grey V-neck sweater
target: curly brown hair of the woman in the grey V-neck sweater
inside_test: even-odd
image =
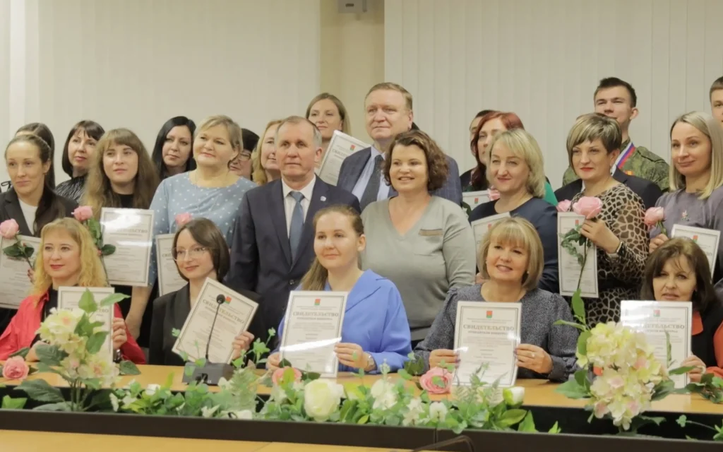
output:
[[[392,185],[389,171],[392,167],[392,153],[398,145],[415,145],[421,149],[422,152],[424,152],[424,158],[427,159],[427,191],[434,192],[442,188],[445,182],[447,182],[447,175],[449,173],[447,157],[439,145],[437,145],[437,142],[432,140],[432,137],[429,137],[429,135],[421,130],[414,129],[397,135],[387,149],[383,163],[384,166],[382,166],[384,180],[387,185]]]

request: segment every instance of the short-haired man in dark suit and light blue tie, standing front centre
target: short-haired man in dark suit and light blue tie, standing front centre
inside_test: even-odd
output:
[[[288,117],[279,124],[274,142],[281,179],[252,189],[241,200],[226,278],[232,289],[260,294],[257,315],[267,328],[278,328],[289,292],[314,260],[315,214],[335,204],[360,211],[354,195],[315,176],[322,148],[314,124]]]

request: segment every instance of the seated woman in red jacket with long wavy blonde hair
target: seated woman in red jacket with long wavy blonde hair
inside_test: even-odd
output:
[[[25,347],[31,347],[26,359],[38,360],[35,354],[35,344],[39,341],[37,331],[50,310],[58,306],[58,288],[61,286],[108,286],[93,237],[73,218],[48,223],[40,233],[33,290],[29,297],[22,300],[17,314],[0,337],[0,360]],[[144,364],[143,352],[129,333],[118,304],[114,310],[114,349],[120,351],[123,359]]]

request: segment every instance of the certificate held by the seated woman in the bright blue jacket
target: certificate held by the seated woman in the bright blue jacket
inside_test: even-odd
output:
[[[296,369],[336,378],[347,292],[291,291],[281,334],[281,359]],[[381,364],[381,363],[379,363]]]

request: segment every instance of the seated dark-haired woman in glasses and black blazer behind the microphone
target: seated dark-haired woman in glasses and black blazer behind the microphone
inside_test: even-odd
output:
[[[174,236],[171,252],[181,278],[188,281],[188,284],[153,302],[148,362],[164,366],[182,366],[184,360],[172,351],[176,343],[173,331],[183,327],[206,278],[223,281],[231,259],[223,234],[213,221],[206,218],[197,218],[181,226]],[[248,292],[241,294],[254,300],[258,299],[256,294]],[[236,336],[232,359],[240,357],[243,351],[249,349],[253,340],[254,335],[248,331]]]

